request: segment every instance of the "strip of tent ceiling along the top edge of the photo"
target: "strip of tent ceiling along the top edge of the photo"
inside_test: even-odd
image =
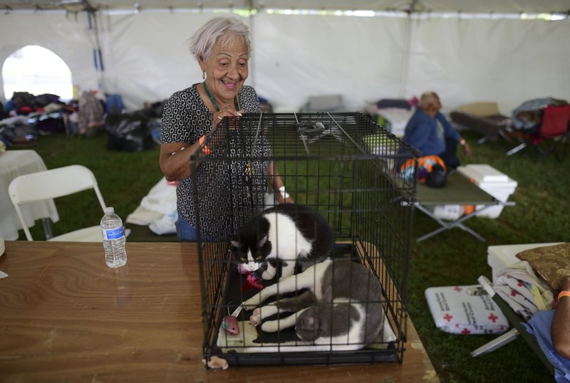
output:
[[[0,0],[0,9],[341,9],[463,13],[563,13],[570,0]]]

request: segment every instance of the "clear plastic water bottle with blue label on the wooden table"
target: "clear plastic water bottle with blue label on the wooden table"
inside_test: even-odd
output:
[[[110,268],[118,268],[127,263],[125,251],[125,230],[120,216],[115,209],[108,207],[101,219],[101,232],[103,233],[103,248],[105,249],[105,263]]]

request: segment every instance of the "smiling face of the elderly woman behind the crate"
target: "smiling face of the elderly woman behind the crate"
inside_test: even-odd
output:
[[[244,85],[248,75],[248,51],[247,42],[241,36],[224,33],[212,47],[209,58],[199,61],[207,75],[208,90],[218,103],[232,103]]]

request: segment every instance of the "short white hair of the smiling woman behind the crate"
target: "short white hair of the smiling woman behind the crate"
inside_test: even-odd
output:
[[[207,60],[217,39],[226,32],[232,32],[223,43],[231,43],[234,38],[241,37],[247,43],[249,53],[249,27],[235,17],[214,17],[200,27],[190,40],[190,52],[196,60]]]

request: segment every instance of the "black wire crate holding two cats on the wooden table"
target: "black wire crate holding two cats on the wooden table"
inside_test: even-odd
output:
[[[212,153],[191,159],[204,358],[223,358],[230,366],[401,362],[415,182],[400,179],[395,165],[410,147],[361,113],[246,114],[222,121],[205,145]],[[335,237],[331,257],[363,263],[380,280],[384,331],[361,350],[266,352],[266,344],[296,342],[294,329],[266,333],[249,325],[250,311],[240,310],[257,290],[246,290],[229,239],[274,204],[267,193],[271,162],[296,203],[328,222]],[[222,325],[232,313],[239,334]]]

